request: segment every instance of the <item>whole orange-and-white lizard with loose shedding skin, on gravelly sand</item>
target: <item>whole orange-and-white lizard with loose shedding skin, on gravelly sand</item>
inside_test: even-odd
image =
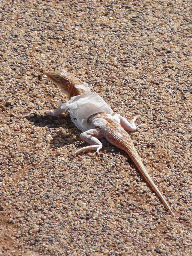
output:
[[[82,84],[78,78],[66,70],[46,71],[45,75],[69,97],[69,101],[63,104],[60,102],[55,111],[46,110],[46,113],[51,116],[59,116],[61,113],[70,110],[72,122],[82,131],[80,138],[89,144],[89,146],[78,149],[75,155],[89,150],[96,151],[99,155],[99,151],[103,146],[99,139],[106,138],[108,142],[124,150],[130,156],[164,206],[175,217],[166,199],[147,172],[130,135],[127,133],[135,131],[142,125],[135,125],[135,120],[140,115],[136,115],[129,122],[123,116],[113,114],[113,110],[102,97],[96,92],[91,92],[88,84]]]

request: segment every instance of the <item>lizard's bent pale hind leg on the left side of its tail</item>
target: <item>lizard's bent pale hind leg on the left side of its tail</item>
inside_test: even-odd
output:
[[[99,150],[102,149],[103,145],[98,140],[103,137],[103,131],[101,129],[90,129],[80,135],[80,138],[87,143],[90,144],[90,146],[83,147],[81,149],[78,149],[75,152],[75,155],[78,154],[81,151],[88,151],[88,150],[96,150],[97,154],[99,155]]]

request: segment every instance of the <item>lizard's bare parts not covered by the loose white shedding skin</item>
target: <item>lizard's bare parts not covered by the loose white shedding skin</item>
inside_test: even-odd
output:
[[[74,88],[74,86],[79,84],[80,82],[78,79],[74,78],[73,75],[66,71],[49,71],[45,74],[61,89],[63,88],[65,91],[67,91],[69,98],[85,93],[83,89]],[[60,107],[58,107],[55,112],[48,111],[48,114],[52,116],[58,116],[63,112],[59,108]],[[127,130],[131,132],[137,129],[139,125],[136,126],[134,124],[134,121],[137,117],[138,116],[128,122],[124,117],[120,115],[118,115],[118,121],[116,118],[114,118],[114,115],[102,113],[99,111],[98,113],[92,114],[87,119],[87,130],[80,135],[80,137],[87,143],[89,143],[90,146],[83,147],[77,150],[76,153],[87,150],[96,150],[99,154],[99,150],[102,148],[102,144],[98,139],[105,137],[107,141],[109,141],[114,146],[124,150],[130,156],[145,180],[150,184],[152,189],[161,198],[161,201],[165,205],[165,207],[168,208],[171,214],[175,217],[164,196],[161,194],[161,192],[153,182],[152,178],[148,174],[146,167],[143,165],[129,134],[127,134],[127,132],[125,131]]]

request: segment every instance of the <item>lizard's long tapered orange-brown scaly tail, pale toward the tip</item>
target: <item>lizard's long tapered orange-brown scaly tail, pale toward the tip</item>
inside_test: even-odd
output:
[[[140,159],[140,156],[138,155],[129,134],[127,134],[127,132],[122,127],[118,127],[118,129],[113,129],[111,127],[108,127],[106,134],[107,134],[106,138],[111,144],[124,150],[130,156],[130,158],[132,159],[134,164],[137,166],[137,168],[139,169],[139,171],[141,172],[145,180],[150,184],[153,190],[161,198],[162,203],[166,206],[167,209],[170,210],[171,214],[175,217],[166,199],[164,198],[162,193],[159,191],[158,187],[155,185],[149,173],[147,172],[145,166],[143,165]]]

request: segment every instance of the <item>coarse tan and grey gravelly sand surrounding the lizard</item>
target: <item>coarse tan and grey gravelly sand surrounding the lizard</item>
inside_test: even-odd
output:
[[[190,1],[1,1],[0,255],[191,255]],[[95,152],[44,77],[67,69],[143,123],[130,158]]]

